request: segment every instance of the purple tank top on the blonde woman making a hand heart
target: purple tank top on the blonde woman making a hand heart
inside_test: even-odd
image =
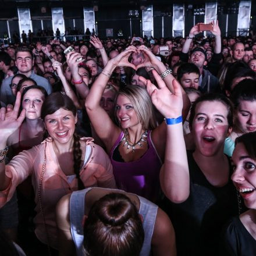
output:
[[[113,152],[119,146],[123,136],[122,131],[110,153],[118,189],[140,195],[152,202],[157,201],[160,192],[159,171],[162,162],[155,151],[154,144],[152,144],[151,131],[148,131],[148,150],[134,162],[118,162],[113,159]]]

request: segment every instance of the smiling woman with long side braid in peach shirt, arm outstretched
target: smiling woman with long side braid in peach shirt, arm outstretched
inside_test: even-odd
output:
[[[49,95],[42,105],[41,118],[49,137],[5,165],[6,141],[25,117],[25,109],[18,115],[19,105],[17,93],[15,106],[0,110],[0,207],[10,200],[17,185],[31,175],[37,213],[35,234],[42,243],[58,250],[56,203],[63,195],[85,187],[115,188],[112,165],[92,138],[79,138],[74,133],[76,107],[61,93]]]

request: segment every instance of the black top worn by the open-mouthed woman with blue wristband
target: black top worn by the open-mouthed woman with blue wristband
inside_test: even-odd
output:
[[[178,256],[216,256],[223,225],[231,216],[238,215],[236,189],[230,179],[223,187],[212,186],[194,161],[192,153],[187,151],[189,198],[180,204],[166,199],[162,207],[168,212],[175,228]]]

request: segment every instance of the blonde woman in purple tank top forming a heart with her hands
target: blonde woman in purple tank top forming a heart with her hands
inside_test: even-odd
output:
[[[128,61],[130,55],[138,53],[148,57],[147,63],[140,63],[140,66],[154,67],[157,70],[153,72],[157,83],[163,83],[157,72],[162,73],[163,80],[172,88],[174,78],[165,65],[144,45],[139,49],[130,46],[112,58],[99,74],[86,99],[86,109],[98,137],[111,157],[118,188],[157,202],[161,194],[159,171],[165,154],[166,123],[162,122],[157,127],[152,101],[147,90],[141,86],[126,86],[118,92],[115,104],[118,125],[101,104],[102,94],[113,70],[120,66],[138,69],[140,66],[136,67]],[[151,84],[150,80],[142,76],[139,79],[144,87]]]

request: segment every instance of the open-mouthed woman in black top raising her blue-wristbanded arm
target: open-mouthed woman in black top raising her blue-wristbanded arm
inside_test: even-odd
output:
[[[172,102],[168,105],[171,111]],[[166,211],[175,227],[177,255],[218,255],[221,228],[239,209],[230,161],[223,154],[233,125],[232,104],[221,94],[202,95],[191,108],[189,123],[194,151],[182,147],[182,125],[168,126],[160,177],[170,200]],[[187,159],[182,161],[181,155]]]

